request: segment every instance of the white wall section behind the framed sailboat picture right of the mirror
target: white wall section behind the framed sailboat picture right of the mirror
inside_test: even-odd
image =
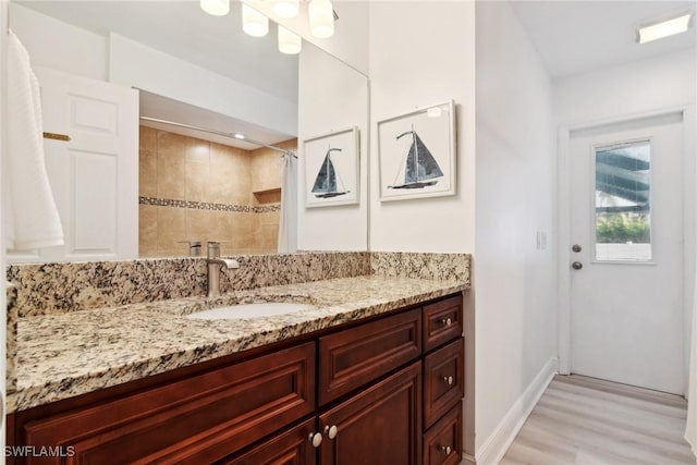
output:
[[[370,124],[418,107],[457,105],[457,193],[380,203],[377,134],[370,145],[370,249],[474,249],[474,2],[370,3]]]

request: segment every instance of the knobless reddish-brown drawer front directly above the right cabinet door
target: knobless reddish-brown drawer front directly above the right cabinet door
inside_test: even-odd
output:
[[[320,338],[320,405],[418,357],[420,328],[417,308]]]

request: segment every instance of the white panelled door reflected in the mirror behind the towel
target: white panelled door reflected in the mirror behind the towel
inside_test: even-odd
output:
[[[138,255],[138,93],[37,69],[46,169],[65,245],[11,261],[109,260]]]

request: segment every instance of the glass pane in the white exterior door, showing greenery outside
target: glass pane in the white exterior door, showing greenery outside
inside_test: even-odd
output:
[[[651,144],[596,147],[596,260],[651,259]]]

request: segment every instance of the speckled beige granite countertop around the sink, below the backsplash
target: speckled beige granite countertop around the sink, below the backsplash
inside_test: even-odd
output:
[[[468,283],[365,276],[20,318],[17,384],[8,412],[210,360],[468,289]],[[235,303],[313,304],[235,320],[186,315]]]

